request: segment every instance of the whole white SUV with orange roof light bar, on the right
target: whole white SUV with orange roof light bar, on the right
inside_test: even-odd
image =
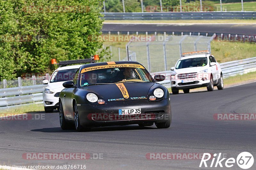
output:
[[[214,85],[219,90],[224,88],[220,64],[209,51],[183,53],[171,70],[172,94],[178,94],[180,89],[188,93],[189,89],[205,86],[208,91],[213,91]]]

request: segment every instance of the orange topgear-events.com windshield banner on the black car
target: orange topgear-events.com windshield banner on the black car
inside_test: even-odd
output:
[[[87,71],[92,71],[92,70],[110,69],[110,68],[117,68],[117,67],[132,67],[132,68],[145,69],[140,64],[111,64],[111,65],[100,65],[100,66],[86,67],[83,70],[81,70],[81,74],[84,72],[87,72]]]

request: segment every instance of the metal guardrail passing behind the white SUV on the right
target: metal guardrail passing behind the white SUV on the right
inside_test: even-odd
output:
[[[252,71],[256,71],[256,57],[220,63],[220,68],[222,70],[223,78],[228,78],[236,75],[243,75]],[[156,73],[151,73],[151,75],[156,75],[156,74],[166,75],[167,78],[164,81],[161,81],[159,83],[166,87],[171,87],[170,78],[172,73],[174,72],[171,70],[168,70],[168,71],[159,71]]]

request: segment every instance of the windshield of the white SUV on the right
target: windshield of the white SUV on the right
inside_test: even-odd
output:
[[[197,57],[197,58],[188,58],[184,60],[180,60],[176,69],[184,69],[189,67],[201,67],[207,65],[207,57]]]

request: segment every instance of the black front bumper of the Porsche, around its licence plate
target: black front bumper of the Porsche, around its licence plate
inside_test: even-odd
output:
[[[141,108],[141,114],[118,115],[118,109],[130,108]],[[167,122],[171,116],[171,104],[170,99],[113,101],[106,105],[78,104],[78,112],[81,125],[88,127]]]

